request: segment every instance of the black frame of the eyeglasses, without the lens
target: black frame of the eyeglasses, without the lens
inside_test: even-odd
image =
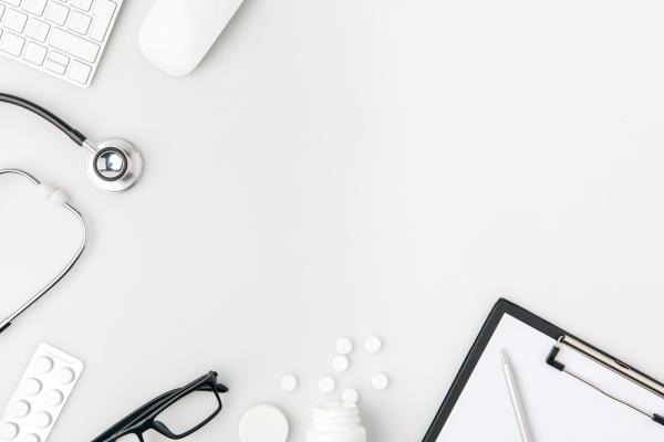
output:
[[[115,442],[120,438],[124,438],[129,434],[134,434],[138,441],[145,442],[143,435],[149,431],[154,430],[159,434],[173,439],[180,440],[184,439],[191,433],[200,430],[203,427],[208,424],[212,419],[221,412],[224,409],[224,403],[221,402],[221,393],[228,392],[228,388],[221,383],[217,382],[217,372],[210,371],[205,376],[196,379],[195,381],[188,383],[183,388],[178,388],[175,390],[170,390],[160,394],[147,402],[143,407],[127,414],[124,419],[117,422],[115,425],[111,427],[108,430],[104,431],[101,435],[93,440],[93,442]],[[173,406],[175,402],[186,397],[187,394],[193,393],[194,391],[211,391],[215,393],[217,399],[218,407],[217,409],[203,422],[193,429],[181,433],[174,433],[166,424],[157,420],[157,417],[166,410],[168,407]]]

